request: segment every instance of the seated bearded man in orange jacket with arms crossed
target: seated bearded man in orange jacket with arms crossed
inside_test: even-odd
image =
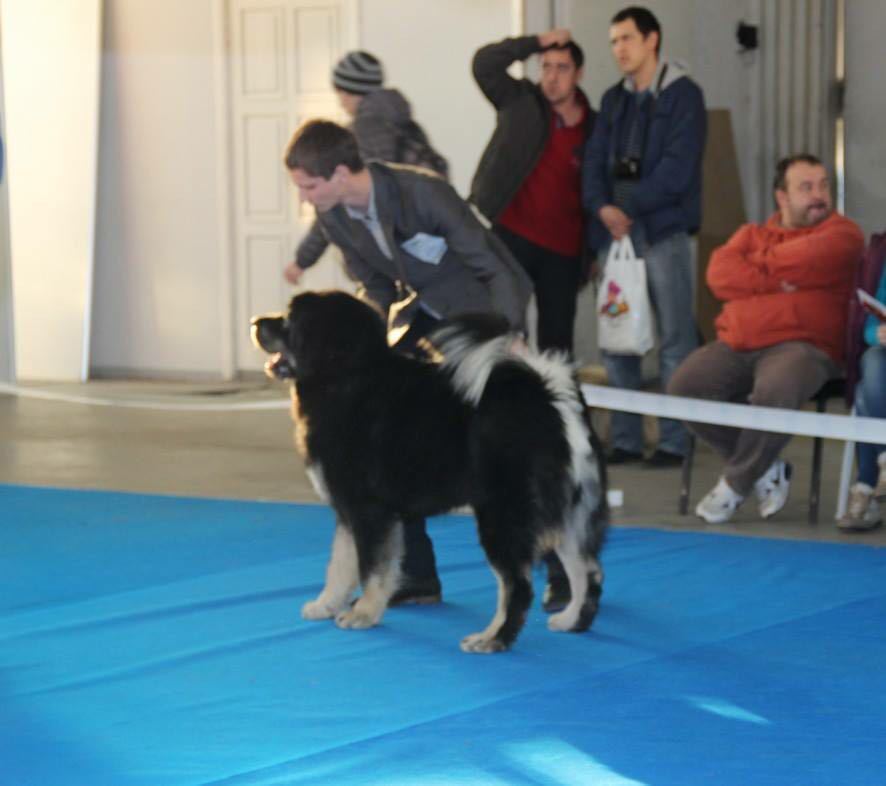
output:
[[[686,358],[669,393],[798,409],[840,375],[864,235],[833,211],[827,171],[814,156],[780,161],[774,189],[778,211],[763,225],[745,224],[711,255],[708,286],[724,301],[717,341]],[[779,454],[789,435],[688,425],[726,461],[698,516],[723,523],[752,491],[764,519],[784,507],[791,466]]]

